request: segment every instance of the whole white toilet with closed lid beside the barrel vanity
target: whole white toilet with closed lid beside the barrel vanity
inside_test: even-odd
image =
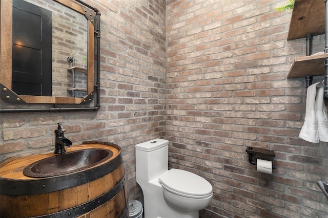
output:
[[[168,170],[169,141],[135,146],[136,180],[144,192],[145,218],[199,218],[213,197],[212,185],[195,173]]]

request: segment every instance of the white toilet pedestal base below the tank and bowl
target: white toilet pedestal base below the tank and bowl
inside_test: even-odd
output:
[[[163,188],[158,182],[158,177],[147,184],[139,185],[144,192],[145,218],[199,218],[198,210],[182,211],[168,205],[163,197]]]

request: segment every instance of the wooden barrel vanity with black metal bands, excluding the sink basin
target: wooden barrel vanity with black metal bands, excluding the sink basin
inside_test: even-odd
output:
[[[120,147],[105,142],[84,142],[66,148],[67,152],[61,155],[83,149],[110,150],[112,156],[92,167],[47,177],[29,177],[23,170],[55,156],[52,152],[1,162],[1,217],[128,217]]]

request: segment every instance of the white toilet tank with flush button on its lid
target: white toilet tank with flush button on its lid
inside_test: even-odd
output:
[[[169,141],[153,139],[135,145],[137,183],[148,182],[168,170]]]

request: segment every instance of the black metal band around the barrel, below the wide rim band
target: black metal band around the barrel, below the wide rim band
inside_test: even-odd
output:
[[[124,177],[108,192],[104,193],[103,195],[100,195],[98,198],[93,199],[85,204],[78,205],[76,207],[63,210],[60,212],[48,214],[48,215],[42,215],[42,216],[34,216],[31,218],[73,218],[80,215],[83,215],[87,212],[90,212],[100,205],[105,204],[106,202],[110,201],[125,185],[125,175]],[[128,207],[128,206],[127,206]],[[127,216],[127,207],[122,212],[122,215],[120,218],[125,218]]]

